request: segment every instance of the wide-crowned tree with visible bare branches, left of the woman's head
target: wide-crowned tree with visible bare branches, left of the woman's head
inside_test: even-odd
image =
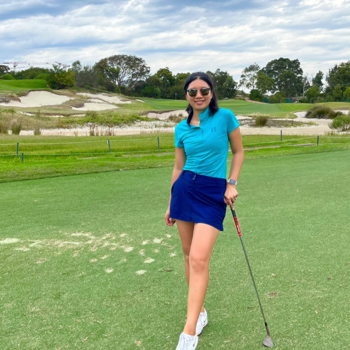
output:
[[[118,86],[119,93],[122,86],[125,86],[126,92],[131,91],[147,77],[150,71],[142,58],[128,55],[103,58],[96,63],[96,69],[100,71],[102,77]]]

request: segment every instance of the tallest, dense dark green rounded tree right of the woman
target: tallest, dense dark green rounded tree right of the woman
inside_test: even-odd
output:
[[[302,93],[303,70],[300,68],[299,59],[293,61],[283,57],[273,59],[261,71],[273,79],[272,92],[287,89],[287,97]]]

